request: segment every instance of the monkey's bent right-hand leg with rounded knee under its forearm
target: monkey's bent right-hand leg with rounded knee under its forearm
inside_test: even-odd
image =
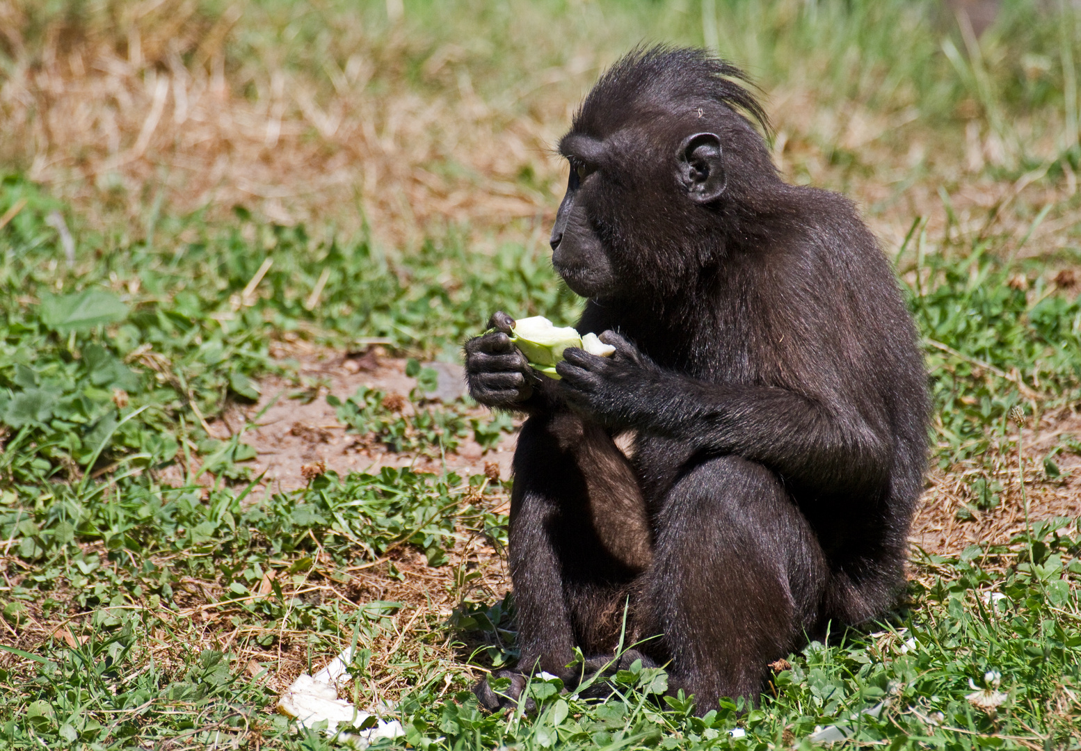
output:
[[[672,688],[699,713],[721,696],[757,700],[769,663],[817,620],[828,572],[806,520],[776,477],[725,456],[684,467],[658,513],[639,607]]]

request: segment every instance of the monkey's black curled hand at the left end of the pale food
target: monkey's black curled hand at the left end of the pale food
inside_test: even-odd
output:
[[[466,341],[466,383],[469,395],[485,406],[499,410],[521,408],[533,395],[539,376],[510,343],[515,319],[502,310],[488,322],[491,331]]]

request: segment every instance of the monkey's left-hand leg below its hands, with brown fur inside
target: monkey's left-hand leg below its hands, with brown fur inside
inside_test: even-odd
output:
[[[565,680],[574,647],[611,654],[635,576],[649,563],[645,505],[626,458],[599,428],[571,414],[532,417],[515,452],[510,576],[519,673]],[[503,675],[503,673],[501,673]],[[508,696],[524,686],[511,673]],[[507,703],[477,688],[482,705]]]

